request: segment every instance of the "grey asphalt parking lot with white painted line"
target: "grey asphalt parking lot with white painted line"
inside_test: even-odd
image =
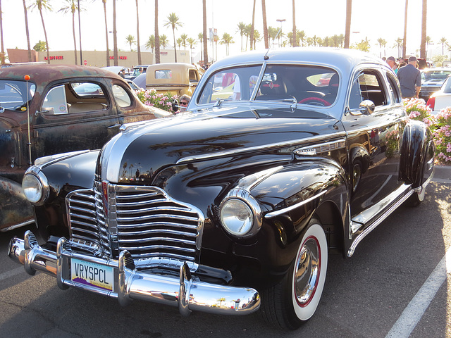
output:
[[[223,317],[78,289],[30,276],[7,257],[0,234],[1,337],[451,337],[451,167],[438,166],[418,208],[402,206],[357,246],[330,256],[323,298],[297,331],[268,327],[259,313]],[[29,227],[32,229],[32,227]],[[450,257],[450,259],[448,259]]]

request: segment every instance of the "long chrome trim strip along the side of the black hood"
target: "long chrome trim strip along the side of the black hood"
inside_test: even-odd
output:
[[[285,141],[285,142],[266,144],[266,145],[262,145],[262,146],[249,146],[247,148],[232,149],[232,150],[227,150],[227,151],[218,151],[214,154],[199,154],[199,155],[193,155],[193,156],[186,156],[186,157],[180,158],[175,164],[183,164],[183,163],[188,163],[188,162],[192,162],[192,161],[205,161],[207,159],[218,158],[218,157],[223,157],[223,156],[231,156],[231,155],[235,155],[235,154],[245,153],[248,151],[268,150],[268,149],[273,149],[273,148],[280,148],[283,146],[296,146],[296,144],[299,144],[301,142],[302,143],[319,142],[324,139],[331,139],[331,138],[335,138],[335,137],[344,137],[344,136],[346,136],[346,132],[336,132],[333,134],[324,134],[324,135],[319,135],[319,136],[314,136],[314,137],[308,137],[305,139],[295,139],[295,140],[290,140],[290,141]]]

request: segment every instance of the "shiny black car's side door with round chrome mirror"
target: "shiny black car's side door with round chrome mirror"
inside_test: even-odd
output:
[[[349,110],[342,118],[350,158],[350,212],[357,232],[371,224],[404,191],[399,180],[400,137],[405,114],[392,75],[364,68],[354,76]],[[362,101],[374,109],[359,110]]]

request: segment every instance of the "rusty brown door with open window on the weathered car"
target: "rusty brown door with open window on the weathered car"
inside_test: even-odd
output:
[[[32,157],[99,149],[120,126],[101,80],[54,82],[43,94],[33,127]]]

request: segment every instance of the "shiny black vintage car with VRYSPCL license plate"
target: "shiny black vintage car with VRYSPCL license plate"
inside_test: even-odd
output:
[[[188,109],[30,168],[23,189],[49,241],[27,232],[9,256],[61,289],[183,315],[260,309],[295,329],[316,311],[329,253],[352,256],[433,176],[430,130],[407,119],[393,71],[359,51],[225,58]]]

